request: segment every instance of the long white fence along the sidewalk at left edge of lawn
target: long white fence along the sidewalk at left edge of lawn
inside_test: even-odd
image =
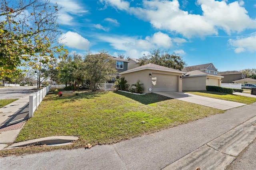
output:
[[[28,105],[29,118],[33,117],[33,114],[37,110],[37,107],[40,105],[44,97],[48,94],[50,89],[51,89],[51,85],[44,87],[42,90],[29,96],[29,105]]]

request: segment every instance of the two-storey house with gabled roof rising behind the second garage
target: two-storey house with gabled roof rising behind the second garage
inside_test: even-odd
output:
[[[213,75],[217,75],[218,71],[217,69],[214,67],[214,65],[212,63],[208,63],[208,64],[201,64],[201,65],[192,65],[189,67],[184,67],[182,69],[182,71],[185,72],[190,72],[190,71],[194,71],[194,70],[199,70],[205,73],[210,73]]]

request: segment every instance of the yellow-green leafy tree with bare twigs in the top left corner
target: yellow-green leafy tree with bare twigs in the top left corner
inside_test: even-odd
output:
[[[0,76],[16,75],[19,66],[43,69],[66,55],[58,44],[58,6],[50,0],[1,0],[0,17]]]

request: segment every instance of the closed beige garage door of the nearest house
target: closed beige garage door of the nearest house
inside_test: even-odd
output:
[[[152,73],[152,92],[178,91],[178,76]]]

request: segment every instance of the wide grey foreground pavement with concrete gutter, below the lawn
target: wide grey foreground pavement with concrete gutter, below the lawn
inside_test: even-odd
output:
[[[112,145],[7,156],[0,158],[0,164],[5,170],[32,170],[38,167],[40,169],[195,170],[197,166],[201,170],[224,170],[237,153],[256,137],[255,110],[256,103],[253,103],[229,109],[223,114],[212,115]]]

